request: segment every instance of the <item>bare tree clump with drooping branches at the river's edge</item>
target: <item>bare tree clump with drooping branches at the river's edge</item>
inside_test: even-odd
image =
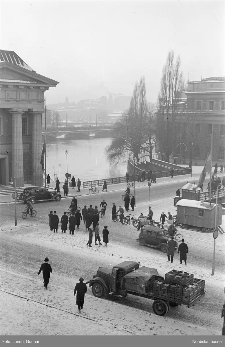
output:
[[[110,145],[106,148],[106,155],[110,164],[117,165],[125,160],[126,154],[132,152],[137,162],[143,156],[151,158],[152,148],[155,146],[153,138],[153,108],[146,101],[145,78],[134,85],[130,108],[117,122]]]

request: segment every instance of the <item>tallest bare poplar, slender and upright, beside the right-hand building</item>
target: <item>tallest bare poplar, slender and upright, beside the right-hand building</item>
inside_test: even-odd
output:
[[[174,59],[174,51],[169,50],[163,67],[158,96],[156,134],[165,160],[169,162],[174,144],[174,121],[178,112],[178,102],[184,88],[183,73],[180,70],[180,56]]]

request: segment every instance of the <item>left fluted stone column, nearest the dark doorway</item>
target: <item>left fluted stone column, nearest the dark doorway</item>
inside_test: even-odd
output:
[[[16,187],[23,187],[22,114],[24,111],[9,111],[9,113],[12,115],[12,176],[16,179]],[[13,187],[15,187],[14,184]]]

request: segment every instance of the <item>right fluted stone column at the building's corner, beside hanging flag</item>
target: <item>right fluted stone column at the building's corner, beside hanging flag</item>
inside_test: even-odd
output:
[[[33,115],[32,122],[32,185],[43,186],[41,165],[42,153],[42,112],[29,112]]]

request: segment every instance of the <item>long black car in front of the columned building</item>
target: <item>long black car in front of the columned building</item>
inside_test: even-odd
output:
[[[35,204],[36,201],[44,201],[44,200],[55,200],[60,201],[61,195],[56,190],[49,190],[47,188],[42,187],[32,187],[25,188],[23,193],[18,197],[19,201],[30,201],[32,204]]]

